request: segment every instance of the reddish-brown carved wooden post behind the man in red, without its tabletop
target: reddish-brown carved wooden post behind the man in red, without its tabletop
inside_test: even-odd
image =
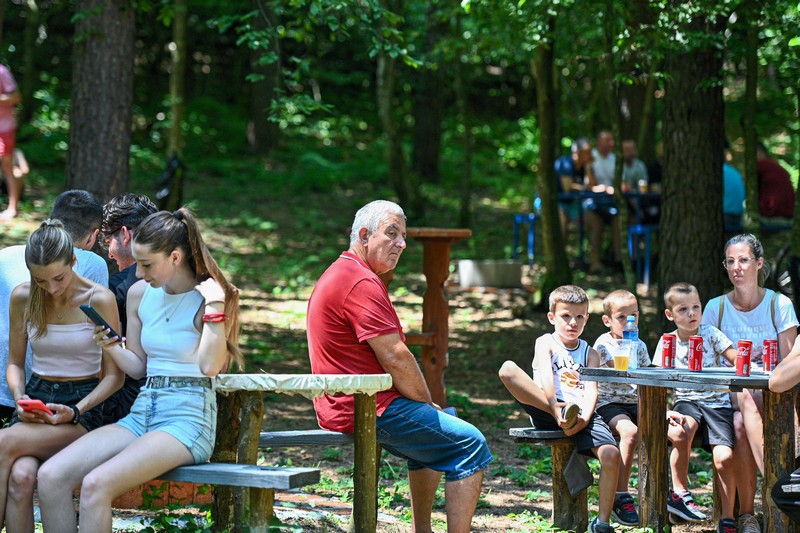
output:
[[[450,239],[423,240],[425,247],[422,271],[427,286],[422,300],[422,331],[434,335],[432,346],[422,347],[422,368],[433,401],[445,407],[444,371],[447,369],[447,350],[450,308],[444,284],[450,275]]]

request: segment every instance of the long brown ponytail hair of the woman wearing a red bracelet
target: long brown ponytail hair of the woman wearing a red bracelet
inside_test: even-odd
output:
[[[192,212],[181,207],[177,211],[159,211],[148,216],[136,229],[133,241],[147,246],[151,252],[169,254],[173,250],[182,250],[189,267],[195,275],[197,283],[208,278],[220,284],[225,291],[225,314],[228,321],[225,332],[228,344],[228,363],[235,361],[237,367],[244,368],[244,360],[239,351],[239,289],[231,284],[219,269],[217,262],[211,257],[197,219]]]

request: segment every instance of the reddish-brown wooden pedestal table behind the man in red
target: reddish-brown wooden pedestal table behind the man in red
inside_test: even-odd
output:
[[[408,237],[422,243],[422,272],[425,294],[422,297],[422,333],[406,335],[406,344],[422,346],[422,369],[433,401],[447,406],[444,372],[450,334],[450,306],[444,284],[450,276],[450,247],[459,239],[468,239],[472,231],[463,228],[408,228]],[[393,272],[381,276],[388,286]]]

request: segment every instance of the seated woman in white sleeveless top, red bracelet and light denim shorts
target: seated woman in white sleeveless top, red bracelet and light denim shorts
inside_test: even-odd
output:
[[[97,327],[95,341],[126,374],[147,375],[128,416],[52,457],[39,471],[42,523],[50,533],[111,531],[111,502],[214,449],[212,378],[240,363],[238,291],[211,257],[194,215],[159,211],[136,230],[137,283],[128,293],[127,347]],[[116,305],[114,305],[116,310]]]

